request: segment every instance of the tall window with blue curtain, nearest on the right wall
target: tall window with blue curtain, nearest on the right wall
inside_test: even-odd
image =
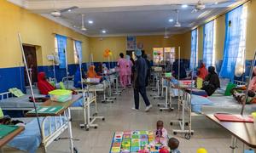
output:
[[[236,66],[245,63],[247,5],[242,5],[226,14],[225,24],[224,59],[220,76],[233,81]]]

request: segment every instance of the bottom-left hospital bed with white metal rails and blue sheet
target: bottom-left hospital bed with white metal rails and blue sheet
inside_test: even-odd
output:
[[[62,116],[46,116],[39,117],[41,123],[42,138],[40,135],[38,121],[33,118],[31,122],[26,123],[25,130],[12,139],[8,147],[3,150],[10,150],[10,148],[16,150],[23,150],[29,153],[34,153],[41,148],[43,152],[47,152],[47,147],[53,141],[58,140],[61,133],[68,128],[68,116],[67,111]],[[22,118],[20,118],[22,120]],[[10,148],[9,148],[10,147]],[[76,148],[73,148],[74,152],[77,152]]]

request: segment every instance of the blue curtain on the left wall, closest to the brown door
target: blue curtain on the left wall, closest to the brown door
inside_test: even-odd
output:
[[[67,59],[66,59],[66,51],[67,51],[67,37],[56,35],[57,44],[58,44],[58,54],[60,59],[59,67],[61,69],[67,68]]]

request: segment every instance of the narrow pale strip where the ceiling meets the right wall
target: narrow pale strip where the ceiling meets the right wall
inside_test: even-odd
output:
[[[207,24],[208,22],[211,22],[212,20],[216,20],[218,17],[221,17],[221,16],[223,16],[224,14],[227,14],[227,13],[229,13],[230,11],[232,11],[233,9],[238,8],[238,7],[240,7],[241,5],[243,5],[243,4],[245,4],[245,3],[248,3],[248,2],[252,2],[252,0],[243,0],[243,1],[241,1],[240,3],[233,4],[234,6],[232,6],[232,7],[230,7],[230,8],[227,8],[226,10],[224,10],[223,13],[218,14],[218,15],[215,15],[215,16],[212,16],[212,18],[209,18],[209,19],[205,20],[205,21],[203,22],[203,24],[201,24],[201,25],[199,25],[199,26],[194,26],[194,27],[191,29],[191,31],[195,30],[196,28],[199,28],[200,26],[203,26],[203,25]]]

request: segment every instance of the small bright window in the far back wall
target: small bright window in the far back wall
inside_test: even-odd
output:
[[[165,65],[166,61],[175,61],[175,48],[153,48],[154,65]]]

